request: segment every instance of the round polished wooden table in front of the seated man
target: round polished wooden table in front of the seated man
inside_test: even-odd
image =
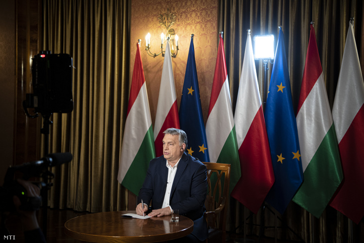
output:
[[[193,230],[193,221],[171,215],[147,219],[122,217],[135,211],[99,212],[78,216],[65,223],[65,233],[75,239],[91,242],[158,242],[180,238]]]

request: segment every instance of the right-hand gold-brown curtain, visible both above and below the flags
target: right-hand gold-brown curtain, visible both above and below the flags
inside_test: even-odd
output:
[[[354,34],[361,57],[364,40],[363,2],[356,0],[220,0],[218,17],[219,31],[224,32],[226,66],[230,81],[233,110],[239,87],[240,72],[244,57],[247,29],[251,36],[274,34],[275,46],[278,39],[278,26],[282,26],[288,69],[292,88],[294,110],[297,108],[304,62],[309,39],[310,22],[314,22],[317,47],[321,59],[329,103],[332,107],[341,58],[350,17],[354,17]],[[262,61],[256,61],[261,98],[263,97],[264,70]],[[268,83],[272,65],[269,65]],[[361,193],[361,192],[358,192]],[[280,239],[302,239],[304,242],[359,242],[364,238],[363,220],[356,225],[327,206],[320,218],[311,216],[300,206],[291,202],[285,213],[280,215],[274,209],[265,209],[264,234]],[[272,209],[272,208],[270,208]],[[228,229],[247,234],[259,233],[261,210],[257,215],[236,200],[230,200]],[[246,218],[250,215],[248,220]],[[246,224],[248,223],[248,224]],[[274,228],[277,226],[277,228]]]

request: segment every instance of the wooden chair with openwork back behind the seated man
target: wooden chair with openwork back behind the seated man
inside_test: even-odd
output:
[[[209,237],[206,242],[225,242],[231,165],[211,162],[203,164],[207,168],[208,182],[204,214],[209,227]]]

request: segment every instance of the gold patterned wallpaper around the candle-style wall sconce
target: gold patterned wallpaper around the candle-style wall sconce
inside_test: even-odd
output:
[[[167,8],[176,15],[176,24],[172,28],[179,37],[179,51],[177,57],[172,58],[172,66],[179,108],[191,34],[194,34],[193,43],[197,75],[203,116],[206,123],[218,45],[217,7],[217,0],[132,1],[130,71],[131,73],[133,72],[136,44],[138,39],[141,39],[142,62],[153,125],[157,110],[164,58],[161,55],[156,58],[147,55],[145,51],[145,36],[148,32],[151,34],[151,52],[159,53],[160,35],[162,32],[166,33],[166,31],[164,27],[159,25],[157,18],[160,14],[166,13]]]

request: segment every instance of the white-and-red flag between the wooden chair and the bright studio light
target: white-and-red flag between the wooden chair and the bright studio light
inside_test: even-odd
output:
[[[241,178],[231,196],[257,213],[273,185],[274,172],[250,34],[246,39],[234,121]]]

